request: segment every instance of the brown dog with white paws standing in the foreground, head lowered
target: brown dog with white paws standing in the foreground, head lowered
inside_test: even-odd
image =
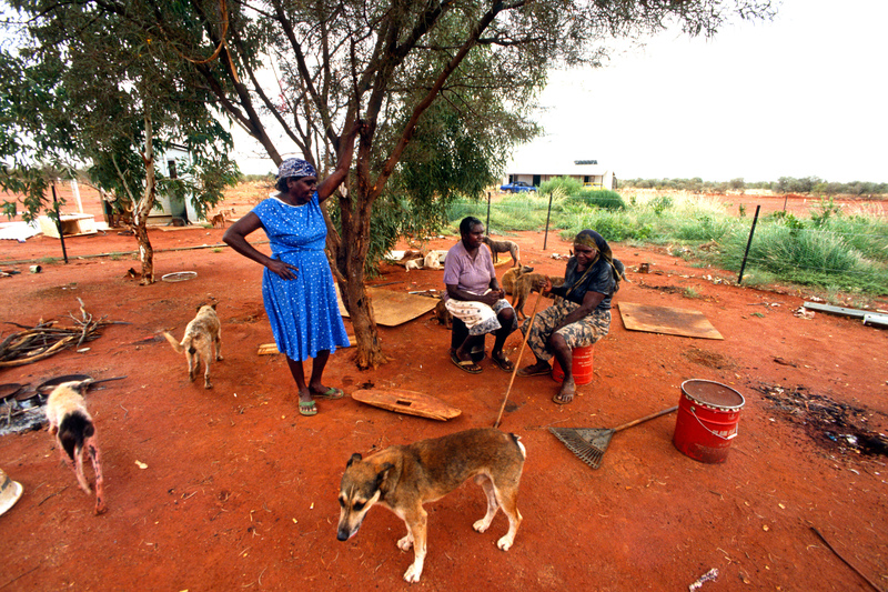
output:
[[[491,525],[503,509],[508,532],[496,545],[508,551],[518,532],[518,484],[526,458],[515,434],[493,428],[476,428],[443,438],[387,448],[363,460],[352,454],[340,484],[340,523],[336,539],[347,541],[357,533],[367,510],[387,508],[407,525],[397,541],[402,551],[413,546],[414,560],[404,580],[420,581],[426,554],[426,502],[440,500],[474,478],[487,496],[487,513],[473,524],[477,532]]]

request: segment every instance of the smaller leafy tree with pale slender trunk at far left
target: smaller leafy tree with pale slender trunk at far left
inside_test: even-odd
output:
[[[236,181],[231,136],[216,121],[211,96],[183,84],[171,48],[153,44],[141,27],[90,2],[11,3],[24,31],[4,48],[0,67],[2,123],[10,138],[4,184],[24,194],[29,217],[44,207],[48,161],[54,170],[87,168],[108,201],[128,214],[139,242],[140,283],[154,281],[148,217],[159,191],[190,199],[199,213]],[[11,76],[17,73],[19,76]],[[14,123],[7,126],[6,123]],[[190,158],[164,177],[157,161],[172,144]],[[7,210],[13,210],[14,203]]]

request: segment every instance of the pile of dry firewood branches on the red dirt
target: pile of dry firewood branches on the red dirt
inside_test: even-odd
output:
[[[41,321],[33,328],[7,321],[8,324],[14,324],[24,331],[12,333],[0,342],[0,368],[30,364],[67,348],[80,348],[83,343],[97,339],[102,327],[114,324],[112,321],[105,321],[104,317],[99,320],[93,319],[92,314],[83,309],[83,301],[78,298],[78,302],[82,319],[69,314],[74,322],[70,328],[56,327],[57,321]]]

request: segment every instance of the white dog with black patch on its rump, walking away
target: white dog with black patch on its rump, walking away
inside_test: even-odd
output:
[[[59,444],[62,462],[74,471],[80,489],[91,494],[92,489],[83,474],[83,451],[89,454],[95,473],[95,514],[99,515],[107,509],[104,480],[95,424],[87,411],[87,402],[82,394],[82,390],[88,385],[89,382],[64,382],[56,387],[47,400],[47,420],[49,433],[56,437]]]

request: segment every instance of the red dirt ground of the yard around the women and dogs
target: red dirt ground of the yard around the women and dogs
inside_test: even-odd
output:
[[[253,200],[232,192],[225,205],[243,214]],[[68,373],[127,377],[88,395],[104,455],[104,515],[92,514],[46,430],[0,437],[0,466],[24,486],[0,516],[0,591],[408,588],[402,574],[413,555],[395,546],[403,524],[392,513],[372,510],[355,538],[336,541],[345,461],[353,452],[491,425],[509,374],[490,360],[480,375],[461,372],[446,353],[447,331],[424,314],[380,329],[390,363],[359,371],[351,351],[340,350],[325,382],[346,392],[366,384],[425,392],[462,415],[437,422],[344,399],[321,401],[316,417],[300,417],[283,358],[256,354],[272,341],[261,268],[228,248],[174,250],[216,244],[222,232],[151,230],[158,277],[198,273],[151,287],[127,277],[139,269],[132,255],[87,258],[135,249],[131,237],[113,231],[68,239],[68,264],[46,259],[60,254],[56,239],[0,243],[0,269],[21,271],[0,279],[3,321],[69,325],[79,297],[93,315],[127,323],[103,329],[83,353],[67,350],[0,371],[0,382],[31,385]],[[537,271],[563,271],[551,254],[566,253],[568,243],[551,235],[543,251],[541,233],[512,239]],[[427,247],[446,249],[455,240]],[[472,530],[484,496],[465,484],[426,506],[428,555],[415,588],[686,590],[717,568],[704,591],[868,590],[816,528],[888,589],[886,458],[860,454],[840,435],[835,442],[825,432],[847,430],[816,423],[819,410],[839,409],[841,421],[888,431],[888,332],[825,313],[797,318],[805,293],[737,287],[730,273],[658,250],[614,250],[632,280],[617,307],[693,309],[725,339],[627,331],[615,309],[610,334],[595,348],[594,381],[573,404],[552,403],[557,385],[547,377],[516,378],[502,424],[528,452],[515,545],[496,549],[507,528],[502,514],[488,532]],[[31,261],[43,271],[29,273]],[[644,262],[652,273],[633,273]],[[440,271],[382,269],[372,283],[390,290],[443,288]],[[188,381],[183,357],[161,337],[163,330],[181,337],[208,298],[220,302],[225,357],[212,367],[209,391]],[[1,337],[18,330],[3,324]],[[519,347],[515,333],[506,348],[513,361]],[[688,379],[718,381],[746,398],[723,464],[697,462],[673,445],[675,414],[617,433],[597,470],[548,431],[610,428],[675,405]]]

